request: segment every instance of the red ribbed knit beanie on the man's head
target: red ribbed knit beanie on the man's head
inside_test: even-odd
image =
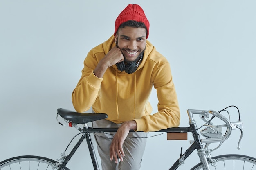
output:
[[[149,22],[148,22],[148,19],[146,18],[146,15],[145,15],[143,9],[137,4],[128,4],[128,6],[118,15],[116,22],[115,22],[114,36],[116,35],[119,26],[122,23],[129,21],[129,20],[143,22],[147,28],[146,38],[148,38]]]

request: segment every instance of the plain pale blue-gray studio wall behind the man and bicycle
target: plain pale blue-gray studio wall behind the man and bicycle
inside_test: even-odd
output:
[[[180,126],[189,126],[187,109],[219,111],[236,105],[244,123],[241,149],[237,130],[212,155],[256,156],[254,0],[1,0],[0,161],[19,155],[60,157],[78,131],[59,125],[56,109],[74,111],[71,94],[83,60],[114,33],[115,19],[129,3],[144,9],[148,41],[170,62]],[[155,90],[150,102],[154,113]],[[230,114],[231,121],[238,120],[236,109]],[[167,141],[166,134],[148,138],[141,170],[170,168],[189,140]],[[193,153],[180,169],[198,162]],[[67,167],[92,169],[86,142]]]

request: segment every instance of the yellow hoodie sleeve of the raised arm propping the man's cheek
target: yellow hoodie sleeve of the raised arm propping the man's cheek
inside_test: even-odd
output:
[[[102,54],[104,56],[104,54]],[[90,109],[97,98],[103,78],[94,75],[93,70],[98,64],[97,57],[90,51],[84,60],[82,76],[72,92],[72,103],[77,112]]]

